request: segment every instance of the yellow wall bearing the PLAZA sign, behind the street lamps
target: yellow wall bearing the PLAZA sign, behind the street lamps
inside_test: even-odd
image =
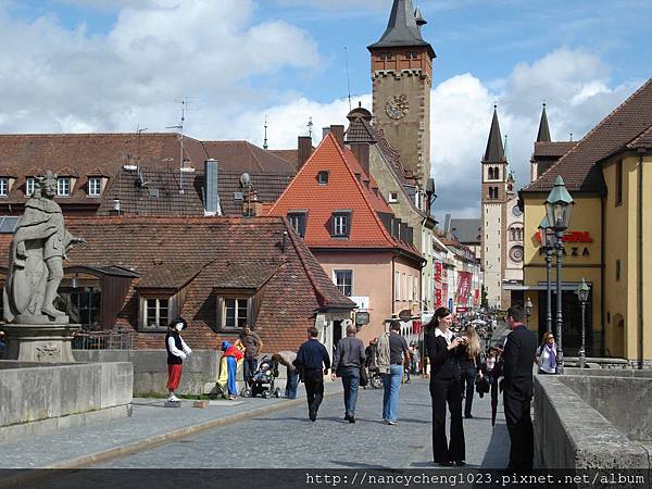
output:
[[[546,216],[543,202],[546,193],[524,193],[524,285],[537,286],[546,283],[546,256],[539,254],[540,242],[537,238],[539,224]],[[602,330],[602,279],[601,279],[601,198],[599,196],[572,196],[575,201],[569,233],[589,233],[591,242],[567,242],[565,244],[566,255],[562,258],[562,283],[579,283],[584,278],[592,287],[592,327],[593,346],[599,352],[600,336]],[[577,255],[573,255],[573,248],[577,248]],[[584,255],[584,251],[588,255]],[[551,272],[552,289],[554,291],[556,281],[556,259],[553,256]],[[537,331],[539,328],[539,294],[546,303],[546,290],[526,290],[524,298],[530,298],[535,310],[530,317],[529,328]],[[552,300],[554,301],[554,294]],[[552,329],[555,333],[555,318],[552,318]]]

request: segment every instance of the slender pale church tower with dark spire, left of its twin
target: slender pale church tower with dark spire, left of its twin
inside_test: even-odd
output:
[[[482,166],[482,269],[489,306],[503,305],[502,281],[506,264],[507,201],[514,193],[514,181],[509,174],[498,111],[493,105],[493,118]]]

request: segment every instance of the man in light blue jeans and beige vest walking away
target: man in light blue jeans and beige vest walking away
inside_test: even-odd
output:
[[[399,331],[401,323],[392,321],[389,333],[378,340],[379,359],[383,359],[383,421],[387,425],[396,425],[399,416],[399,390],[403,378],[403,364],[410,364],[408,341]],[[380,362],[380,360],[379,360]]]

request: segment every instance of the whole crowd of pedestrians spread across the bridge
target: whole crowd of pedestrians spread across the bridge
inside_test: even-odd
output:
[[[410,376],[423,374],[429,378],[432,414],[432,460],[442,466],[466,464],[464,422],[473,418],[473,399],[490,392],[491,423],[496,423],[499,391],[503,391],[503,403],[510,432],[509,468],[531,468],[534,459],[532,424],[530,402],[532,397],[532,364],[538,364],[540,374],[556,372],[556,346],[554,336],[548,331],[537,348],[535,335],[523,325],[523,308],[507,310],[504,321],[511,333],[502,348],[486,343],[473,324],[460,333],[453,327],[453,314],[447,308],[435,311],[425,325],[423,355],[416,342],[408,344],[400,334],[401,324],[392,321],[389,330],[374,338],[365,348],[356,337],[358,328],[344,321],[346,337],[335,346],[333,362],[326,347],[318,340],[316,327],[308,328],[308,339],[298,352],[281,351],[272,355],[275,365],[286,367],[285,396],[297,397],[298,381],[305,386],[308,414],[312,422],[317,419],[324,399],[324,379],[328,374],[333,380],[341,379],[343,391],[344,421],[355,423],[355,406],[361,387],[381,378],[383,423],[397,425],[399,422],[399,397],[401,385]],[[493,327],[491,327],[493,326]],[[178,400],[174,391],[178,387],[183,361],[190,348],[180,337],[186,327],[183,318],[175,319],[170,327],[165,347],[167,349],[170,400]],[[496,323],[482,329],[486,336],[493,331]],[[0,338],[1,340],[1,338]],[[258,356],[263,342],[256,333],[244,327],[239,339],[230,344],[222,342],[223,369],[221,380],[230,399],[236,399],[236,374],[238,362],[243,364],[246,385],[251,383],[256,369]],[[276,368],[277,371],[277,368]],[[371,378],[369,378],[371,377]],[[500,378],[502,377],[502,380]],[[220,380],[218,380],[220,383]],[[379,387],[379,386],[377,386]],[[464,408],[464,416],[462,409]],[[450,426],[447,437],[447,409]]]

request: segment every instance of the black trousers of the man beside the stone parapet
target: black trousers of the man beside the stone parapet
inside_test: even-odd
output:
[[[503,403],[511,441],[510,465],[507,468],[532,468],[535,436],[530,416],[530,400],[521,399],[505,390]]]

